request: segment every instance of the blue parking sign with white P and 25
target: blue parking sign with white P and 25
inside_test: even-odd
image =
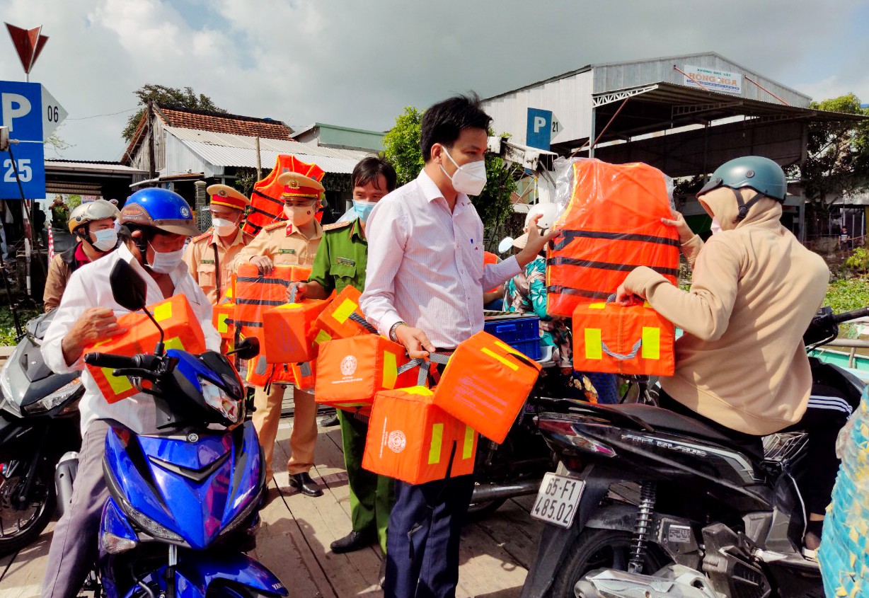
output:
[[[42,106],[39,83],[0,81],[0,125],[19,142],[0,151],[0,199],[21,199],[22,191],[26,199],[45,197]]]

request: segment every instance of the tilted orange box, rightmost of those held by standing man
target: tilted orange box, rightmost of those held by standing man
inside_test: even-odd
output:
[[[534,388],[541,365],[497,337],[478,332],[459,343],[434,391],[434,404],[494,442],[507,431]]]

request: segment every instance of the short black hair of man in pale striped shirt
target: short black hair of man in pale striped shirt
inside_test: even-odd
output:
[[[462,129],[488,130],[492,117],[480,108],[480,96],[474,92],[468,96],[454,96],[434,104],[422,115],[420,149],[422,160],[428,163],[432,146],[441,143],[453,147]]]

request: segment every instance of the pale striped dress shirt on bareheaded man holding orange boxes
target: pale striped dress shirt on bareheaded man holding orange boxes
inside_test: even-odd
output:
[[[483,329],[483,289],[520,272],[514,256],[484,265],[477,210],[460,193],[450,211],[425,170],[375,205],[365,234],[362,312],[381,335],[403,320],[437,349],[453,349]]]

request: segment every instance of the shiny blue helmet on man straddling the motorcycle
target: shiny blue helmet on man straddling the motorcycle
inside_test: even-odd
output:
[[[150,226],[176,235],[199,234],[189,203],[169,189],[140,189],[127,198],[121,209],[121,224]]]

